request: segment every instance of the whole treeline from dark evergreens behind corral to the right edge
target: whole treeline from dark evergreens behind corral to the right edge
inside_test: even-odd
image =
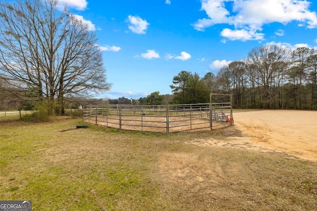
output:
[[[317,110],[317,50],[267,44],[216,75],[181,71],[172,83],[171,103],[205,103],[210,93],[222,93],[232,94],[234,108]],[[141,100],[148,98],[153,93]]]

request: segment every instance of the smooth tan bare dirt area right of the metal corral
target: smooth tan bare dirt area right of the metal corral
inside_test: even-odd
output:
[[[233,116],[252,145],[317,162],[317,111],[264,110]]]

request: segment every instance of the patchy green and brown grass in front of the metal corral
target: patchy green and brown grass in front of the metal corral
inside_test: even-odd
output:
[[[317,210],[317,163],[230,144],[237,127],[144,133],[0,122],[0,200],[42,210]],[[212,137],[221,146],[192,143]]]

